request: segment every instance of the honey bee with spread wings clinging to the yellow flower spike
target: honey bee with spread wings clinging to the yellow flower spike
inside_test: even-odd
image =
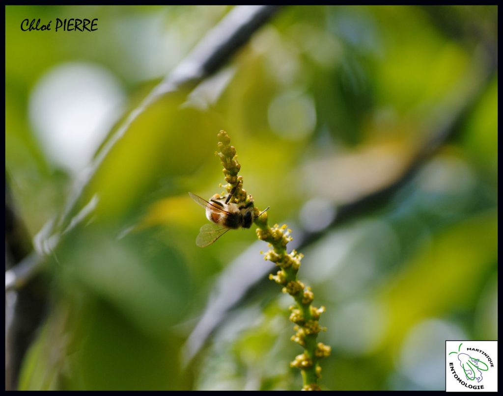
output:
[[[194,201],[206,208],[206,217],[212,222],[212,224],[205,224],[199,230],[199,235],[196,238],[197,246],[205,247],[211,245],[229,230],[235,230],[240,227],[250,228],[254,218],[258,217],[254,216],[253,200],[245,205],[229,204],[235,189],[236,187],[232,188],[227,199],[224,200],[225,197],[215,194],[210,198],[209,202],[199,195],[189,192],[190,197]]]

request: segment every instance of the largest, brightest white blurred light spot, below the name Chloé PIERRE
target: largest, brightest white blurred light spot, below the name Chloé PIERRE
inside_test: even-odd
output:
[[[124,93],[103,67],[66,63],[39,79],[29,101],[30,122],[48,161],[75,174],[118,120]]]

